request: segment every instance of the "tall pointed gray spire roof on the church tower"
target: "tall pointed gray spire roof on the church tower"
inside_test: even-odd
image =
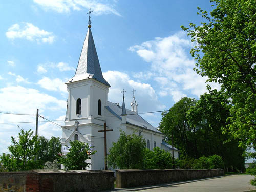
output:
[[[110,87],[110,84],[102,76],[99,59],[90,28],[88,28],[86,39],[83,43],[75,76],[68,80],[66,83],[88,78],[94,78]]]

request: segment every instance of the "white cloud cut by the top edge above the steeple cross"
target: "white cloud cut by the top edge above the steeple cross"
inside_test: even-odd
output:
[[[46,10],[53,10],[59,13],[67,13],[70,10],[80,11],[91,8],[93,14],[115,14],[120,16],[113,5],[100,3],[98,0],[33,0],[34,3],[42,6]]]

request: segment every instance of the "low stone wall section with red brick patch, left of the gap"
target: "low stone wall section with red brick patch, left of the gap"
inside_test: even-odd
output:
[[[32,170],[0,172],[0,191],[66,192],[114,189],[109,170]]]

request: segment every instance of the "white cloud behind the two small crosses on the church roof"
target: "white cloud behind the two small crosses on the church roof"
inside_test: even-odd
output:
[[[165,106],[159,102],[157,94],[150,84],[137,82],[131,79],[126,73],[120,71],[107,71],[103,73],[103,76],[112,86],[109,89],[109,101],[121,104],[121,91],[124,88],[127,91],[125,93],[125,106],[130,109],[130,103],[133,99],[132,90],[135,89],[137,90],[135,92],[135,98],[139,105],[139,113],[163,110],[165,108]]]

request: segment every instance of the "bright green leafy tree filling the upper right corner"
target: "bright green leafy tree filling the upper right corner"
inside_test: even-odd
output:
[[[231,103],[226,132],[242,147],[256,148],[256,1],[210,0],[210,15],[199,9],[200,26],[181,26],[195,47],[197,73],[221,83]]]

